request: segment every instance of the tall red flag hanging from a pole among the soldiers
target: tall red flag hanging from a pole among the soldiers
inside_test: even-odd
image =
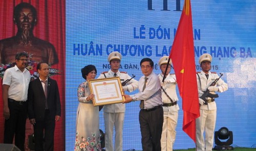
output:
[[[190,0],[184,1],[169,58],[172,58],[183,109],[183,131],[196,142],[196,118],[200,116]]]

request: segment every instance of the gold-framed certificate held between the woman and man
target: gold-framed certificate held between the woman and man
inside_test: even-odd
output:
[[[92,79],[88,82],[91,94],[94,94],[94,106],[124,101],[120,77]]]

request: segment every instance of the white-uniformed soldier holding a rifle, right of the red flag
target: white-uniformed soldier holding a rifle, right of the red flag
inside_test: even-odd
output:
[[[210,54],[203,54],[199,58],[199,64],[202,71],[197,73],[197,85],[198,85],[198,96],[201,97],[206,89],[211,94],[215,92],[224,92],[228,89],[227,83],[222,79],[219,79],[215,86],[209,85],[217,78],[218,74],[210,72],[212,57]],[[200,117],[196,119],[196,140],[197,140],[197,151],[209,151],[212,150],[214,145],[214,131],[216,124],[217,107],[215,98],[206,98],[207,104],[201,98],[199,98],[200,104]],[[205,139],[204,139],[205,132]]]

